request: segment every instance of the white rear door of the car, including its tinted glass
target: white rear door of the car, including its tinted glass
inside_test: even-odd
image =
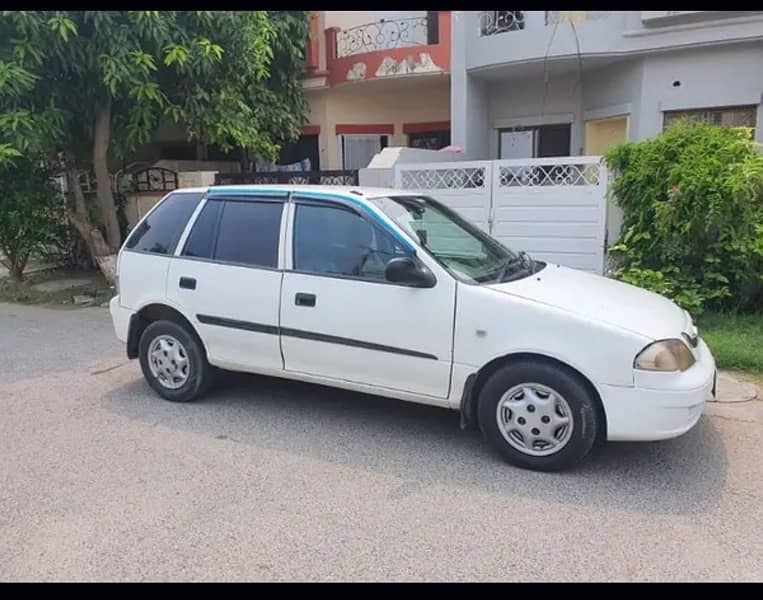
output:
[[[283,369],[278,306],[285,198],[208,197],[172,260],[167,296],[192,319],[214,365]]]

